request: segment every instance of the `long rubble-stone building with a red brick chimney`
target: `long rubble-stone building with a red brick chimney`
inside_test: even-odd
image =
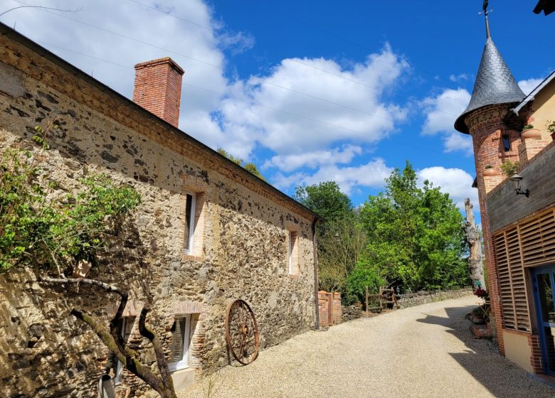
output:
[[[128,289],[125,338],[143,362],[154,362],[137,333],[147,295],[176,389],[228,363],[230,301],[253,308],[262,348],[317,328],[318,216],[177,129],[176,63],[136,65],[132,102],[11,28],[0,24],[0,35],[0,148],[30,145],[38,124],[58,118],[41,160],[60,193],[95,171],[142,195],[88,277]],[[44,286],[25,269],[0,274],[0,395],[96,397],[109,355],[70,310],[108,320],[116,304],[94,288]],[[118,391],[148,394],[113,368]]]

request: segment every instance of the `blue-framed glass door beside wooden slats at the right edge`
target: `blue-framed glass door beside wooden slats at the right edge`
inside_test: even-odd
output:
[[[555,375],[555,267],[535,269],[533,276],[544,370]]]

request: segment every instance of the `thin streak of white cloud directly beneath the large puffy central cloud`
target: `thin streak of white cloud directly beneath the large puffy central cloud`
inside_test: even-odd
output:
[[[276,155],[264,163],[264,167],[275,167],[290,172],[306,166],[317,168],[322,165],[351,163],[355,155],[360,155],[362,148],[355,145],[344,145],[324,151],[313,151],[304,154]]]

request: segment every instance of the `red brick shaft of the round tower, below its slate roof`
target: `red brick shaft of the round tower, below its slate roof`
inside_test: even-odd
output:
[[[492,334],[497,336],[499,353],[504,355],[504,341],[502,333],[502,309],[501,296],[499,295],[499,275],[493,247],[492,234],[490,232],[490,222],[487,216],[486,195],[490,190],[499,185],[504,178],[501,173],[501,164],[505,160],[518,161],[517,145],[519,141],[518,131],[508,129],[503,122],[507,114],[507,105],[489,105],[477,109],[469,114],[465,123],[469,127],[474,146],[474,161],[476,166],[476,178],[478,184],[478,200],[480,203],[480,216],[482,219],[482,232],[484,235],[484,255],[488,276],[488,291],[491,299],[491,326]],[[508,135],[511,142],[511,151],[504,151],[502,135]],[[485,166],[493,176],[484,176]],[[491,174],[488,172],[487,174]]]

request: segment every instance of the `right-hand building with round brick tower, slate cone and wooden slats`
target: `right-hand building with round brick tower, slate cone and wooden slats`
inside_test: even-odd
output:
[[[455,129],[474,146],[492,328],[502,355],[527,372],[553,375],[555,72],[524,95],[487,23],[486,13],[480,68]],[[504,175],[507,161],[519,162],[516,176]]]

